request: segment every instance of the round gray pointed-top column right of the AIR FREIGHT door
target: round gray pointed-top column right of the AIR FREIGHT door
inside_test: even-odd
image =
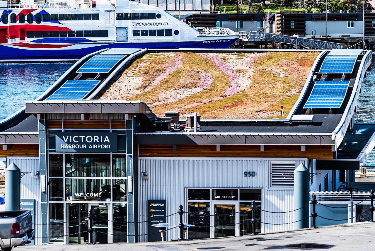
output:
[[[294,229],[309,227],[309,169],[300,164],[294,169]],[[297,210],[298,209],[298,210]]]

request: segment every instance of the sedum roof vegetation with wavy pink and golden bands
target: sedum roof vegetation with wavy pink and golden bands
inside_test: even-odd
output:
[[[122,70],[99,99],[142,100],[158,116],[284,118],[319,52],[150,53]],[[285,78],[279,77],[281,75]]]

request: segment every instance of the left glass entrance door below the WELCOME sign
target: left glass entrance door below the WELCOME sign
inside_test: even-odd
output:
[[[68,244],[87,244],[89,240],[89,211],[87,203],[68,205]]]

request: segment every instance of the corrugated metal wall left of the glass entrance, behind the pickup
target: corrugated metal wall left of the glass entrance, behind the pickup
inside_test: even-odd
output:
[[[7,157],[7,166],[14,163],[21,169],[22,172],[31,172],[36,174],[39,172],[39,158],[38,157]],[[31,177],[30,173],[25,174],[21,178],[21,199],[34,199],[35,200],[35,212],[34,212],[34,223],[41,223],[41,208],[40,208],[40,179]],[[41,225],[35,226],[35,236],[42,236]],[[35,238],[35,244],[41,245],[42,239]]]

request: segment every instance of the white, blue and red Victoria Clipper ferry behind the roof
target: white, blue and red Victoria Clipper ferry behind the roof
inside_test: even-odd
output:
[[[0,62],[76,61],[104,48],[228,48],[228,28],[193,28],[140,0],[0,1]]]

